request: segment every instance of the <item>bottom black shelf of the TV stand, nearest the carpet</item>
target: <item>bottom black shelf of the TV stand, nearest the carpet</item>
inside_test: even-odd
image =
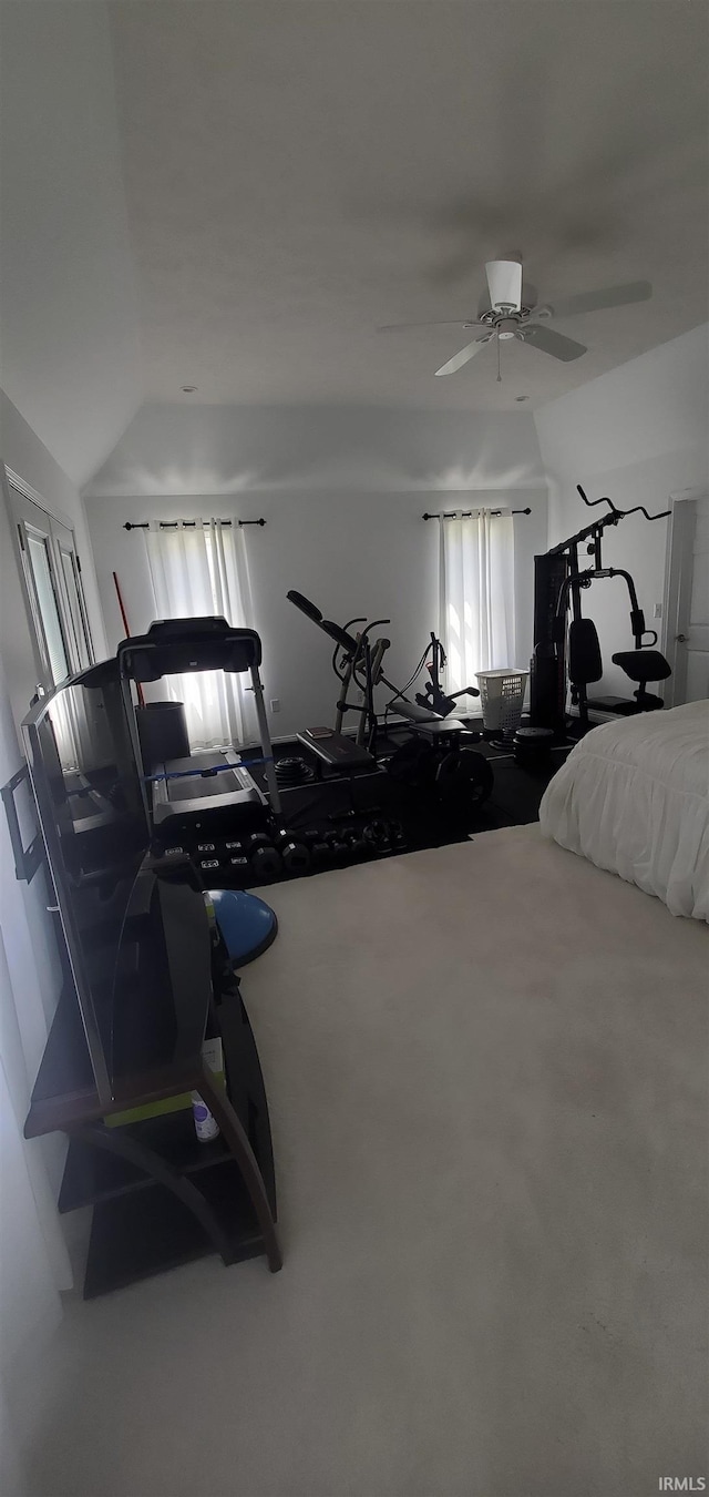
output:
[[[235,1160],[206,1169],[199,1190],[227,1234],[230,1263],[263,1253],[263,1237]],[[84,1298],[123,1289],[212,1251],[205,1229],[163,1186],[100,1201],[93,1214]]]

